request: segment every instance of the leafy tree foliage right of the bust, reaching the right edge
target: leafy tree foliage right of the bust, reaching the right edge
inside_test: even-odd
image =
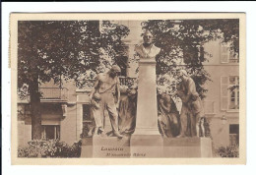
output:
[[[150,20],[143,23],[155,36],[156,46],[161,48],[157,59],[158,83],[171,91],[177,84],[176,70],[183,67],[193,78],[202,98],[207,89],[203,85],[211,81],[204,70],[207,61],[204,43],[222,38],[230,42],[230,49],[239,54],[239,20]]]

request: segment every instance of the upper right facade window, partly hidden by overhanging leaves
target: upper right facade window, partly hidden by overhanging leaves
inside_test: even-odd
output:
[[[221,43],[221,63],[239,63],[238,55],[230,50],[229,43]]]

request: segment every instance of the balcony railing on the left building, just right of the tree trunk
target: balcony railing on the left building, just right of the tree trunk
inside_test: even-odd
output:
[[[65,87],[40,87],[41,99],[68,99],[68,88]]]

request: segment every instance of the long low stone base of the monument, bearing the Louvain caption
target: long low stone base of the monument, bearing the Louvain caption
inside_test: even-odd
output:
[[[162,138],[157,135],[133,135],[86,138],[81,157],[97,158],[189,158],[212,157],[210,138]]]

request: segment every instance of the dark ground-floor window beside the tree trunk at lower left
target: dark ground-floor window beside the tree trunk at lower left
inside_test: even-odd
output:
[[[41,138],[42,140],[59,140],[60,126],[59,125],[42,125]]]

